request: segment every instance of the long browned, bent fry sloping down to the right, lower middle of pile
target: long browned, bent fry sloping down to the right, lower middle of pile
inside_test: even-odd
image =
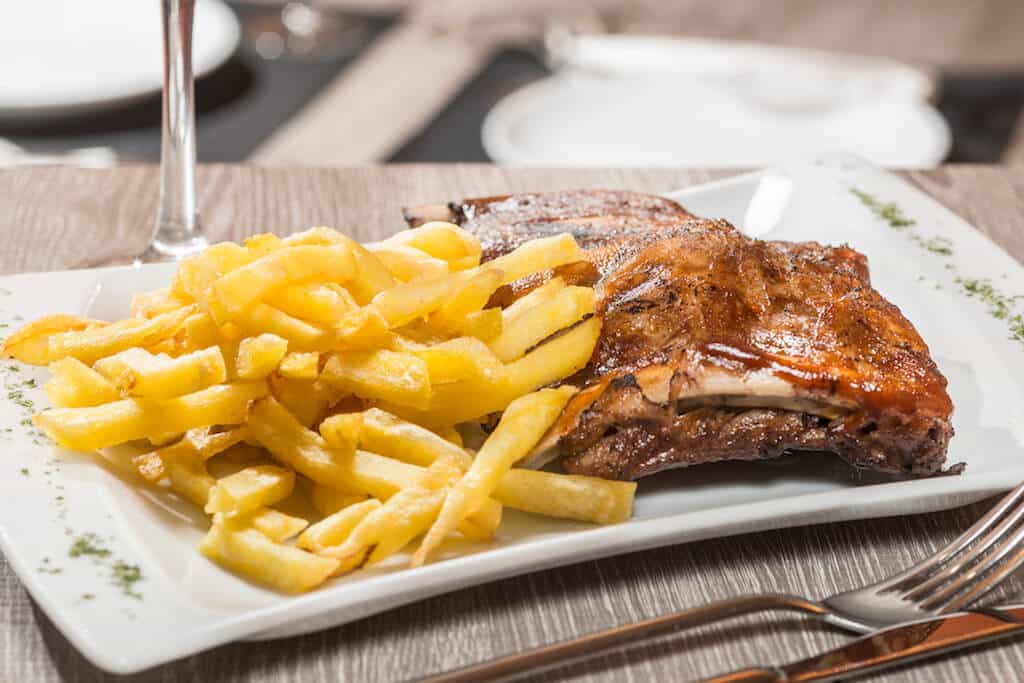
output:
[[[338,457],[273,397],[255,401],[247,422],[253,437],[279,462],[316,483],[386,499],[413,485],[422,469],[365,451]]]

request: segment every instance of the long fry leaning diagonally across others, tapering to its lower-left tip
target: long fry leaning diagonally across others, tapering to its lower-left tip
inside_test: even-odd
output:
[[[554,424],[573,393],[573,387],[541,389],[509,404],[469,470],[449,492],[437,521],[413,556],[414,566],[423,564],[430,552],[456,530],[459,522],[484,504],[502,476],[525,458]]]

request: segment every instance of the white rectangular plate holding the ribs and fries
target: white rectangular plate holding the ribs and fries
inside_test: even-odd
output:
[[[854,188],[896,204],[915,224],[890,226]],[[957,283],[987,278],[999,292],[1024,294],[1019,263],[918,189],[856,160],[765,171],[673,197],[697,214],[766,230],[769,239],[847,243],[865,253],[874,286],[916,325],[949,379],[956,407],[949,462],[967,463],[966,473],[868,484],[823,456],[700,466],[643,481],[635,517],[624,524],[510,512],[493,546],[415,570],[395,570],[403,565],[395,558],[285,597],[204,559],[196,545],[205,520],[187,506],[132,485],[116,467],[97,467],[104,459],[61,452],[35,435],[23,421],[29,402],[45,404],[38,386],[45,373],[2,361],[0,546],[7,560],[85,656],[129,673],[232,640],[307,633],[545,567],[709,537],[950,508],[1024,479],[1024,343]],[[146,266],[0,278],[0,324],[14,328],[51,312],[120,317],[132,291],[163,286],[170,272]],[[110,554],[72,557],[86,533]],[[130,593],[113,580],[119,561],[141,570]]]

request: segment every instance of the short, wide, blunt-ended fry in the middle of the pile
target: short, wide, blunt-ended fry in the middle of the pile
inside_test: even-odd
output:
[[[430,404],[427,364],[411,353],[340,351],[328,358],[321,381],[360,398],[421,409]]]

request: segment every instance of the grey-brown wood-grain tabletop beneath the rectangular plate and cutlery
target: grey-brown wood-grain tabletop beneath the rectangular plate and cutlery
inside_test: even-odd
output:
[[[213,240],[325,223],[373,239],[401,226],[397,208],[403,204],[573,186],[668,190],[715,175],[723,174],[492,166],[231,166],[202,169],[199,185]],[[946,167],[909,177],[1024,259],[1024,167]],[[2,171],[0,234],[5,244],[0,272],[100,264],[138,252],[156,200],[157,172],[152,167]],[[323,633],[227,645],[128,679],[106,677],[82,658],[0,560],[0,680],[406,680],[739,593],[821,596],[854,588],[933,552],[990,505],[761,532],[587,562],[470,588]],[[1024,577],[1000,590],[995,600],[1009,600],[1022,587]],[[586,681],[691,680],[807,655],[846,638],[787,616],[752,617],[610,654],[561,676]],[[1022,671],[1024,641],[1016,641],[883,678],[1010,681]]]

